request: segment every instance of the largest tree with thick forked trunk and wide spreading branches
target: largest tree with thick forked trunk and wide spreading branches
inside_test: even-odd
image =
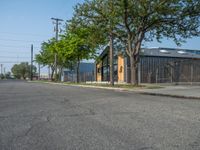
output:
[[[199,36],[199,0],[120,0],[121,36],[131,63],[131,83],[138,84],[137,69],[142,42],[171,38],[177,45]]]

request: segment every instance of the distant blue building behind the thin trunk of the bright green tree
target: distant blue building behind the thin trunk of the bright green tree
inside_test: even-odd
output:
[[[94,81],[94,63],[80,63],[80,82],[86,81]],[[77,80],[77,73],[76,73],[76,66],[72,67],[71,69],[63,69],[62,73],[62,81],[64,82],[76,82]]]

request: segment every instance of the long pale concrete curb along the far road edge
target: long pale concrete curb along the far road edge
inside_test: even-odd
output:
[[[142,95],[152,95],[152,96],[162,96],[162,97],[171,97],[171,98],[182,98],[182,99],[196,99],[200,100],[200,97],[195,96],[184,96],[184,95],[173,95],[173,94],[164,94],[164,93],[156,93],[156,92],[145,92],[137,89],[127,89],[127,88],[114,88],[114,87],[102,87],[102,86],[92,86],[92,85],[73,85],[73,84],[63,84],[63,83],[55,83],[55,82],[37,82],[37,81],[28,81],[31,83],[45,83],[45,84],[54,84],[54,85],[63,85],[63,86],[74,86],[74,87],[85,87],[85,88],[96,88],[96,89],[107,89],[107,90],[115,90],[115,91],[125,91],[125,92],[135,92],[137,94]]]

